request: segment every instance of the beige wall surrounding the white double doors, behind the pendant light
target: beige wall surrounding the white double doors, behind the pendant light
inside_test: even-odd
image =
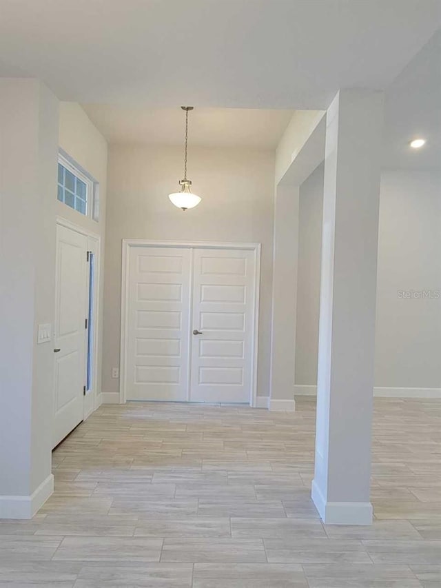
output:
[[[182,212],[167,195],[183,174],[181,148],[113,145],[107,194],[103,392],[117,401],[121,314],[121,240],[262,243],[258,395],[269,394],[274,154],[232,148],[190,148],[189,178],[203,197]]]

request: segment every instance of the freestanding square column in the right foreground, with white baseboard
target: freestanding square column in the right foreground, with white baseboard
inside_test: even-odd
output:
[[[381,92],[327,111],[312,498],[325,523],[369,524]]]

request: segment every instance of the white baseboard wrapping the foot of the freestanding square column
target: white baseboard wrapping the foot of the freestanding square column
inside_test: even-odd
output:
[[[311,498],[325,525],[371,525],[371,503],[329,503],[326,502],[316,480],[312,480]]]

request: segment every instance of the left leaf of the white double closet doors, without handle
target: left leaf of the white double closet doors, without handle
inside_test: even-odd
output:
[[[132,247],[127,400],[186,401],[191,250]]]

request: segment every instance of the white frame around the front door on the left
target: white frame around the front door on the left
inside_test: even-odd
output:
[[[86,394],[83,401],[83,419],[85,420],[99,407],[99,365],[98,365],[98,349],[99,349],[99,316],[100,316],[100,296],[99,296],[99,285],[100,285],[100,266],[101,266],[101,236],[99,234],[94,233],[88,229],[85,229],[79,225],[76,225],[67,219],[64,219],[63,216],[57,216],[57,225],[61,227],[65,227],[66,229],[70,229],[75,231],[81,235],[88,237],[88,249],[94,249],[95,253],[95,292],[94,292],[94,324],[93,324],[93,332],[94,332],[94,349],[93,349],[93,385],[92,385],[92,392],[90,394]],[[85,334],[86,336],[86,334]],[[85,339],[85,345],[87,345],[87,340]],[[86,358],[87,358],[87,347],[86,347]],[[87,359],[85,362],[85,369],[87,369]]]

